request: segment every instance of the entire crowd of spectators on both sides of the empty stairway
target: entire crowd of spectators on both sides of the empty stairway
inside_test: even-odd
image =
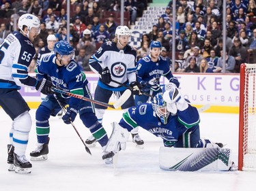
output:
[[[47,45],[47,36],[54,34],[57,40],[70,39],[76,52],[76,60],[84,71],[89,57],[100,44],[113,39],[118,26],[114,14],[107,17],[104,12],[120,12],[120,1],[71,0],[70,37],[67,37],[66,0],[2,0],[0,18],[10,18],[0,23],[0,43],[14,31],[14,15],[31,13],[41,20],[41,33],[35,41],[38,51]],[[129,12],[130,24],[142,16],[147,0],[125,0],[125,11]],[[223,20],[223,1],[218,0],[177,0],[176,23],[172,26],[172,0],[167,4],[165,14],[158,16],[152,24],[152,31],[143,34],[137,58],[150,54],[150,41],[162,43],[161,55],[175,65],[173,72],[239,73],[241,63],[256,63],[256,3],[255,0],[227,0],[227,17]],[[223,22],[227,38],[223,53]],[[172,62],[173,28],[175,30],[175,62]],[[223,57],[226,62],[223,63]],[[172,67],[171,67],[172,68]]]

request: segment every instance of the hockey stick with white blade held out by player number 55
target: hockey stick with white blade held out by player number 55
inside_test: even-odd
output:
[[[83,97],[79,94],[72,94],[70,92],[66,92],[64,90],[60,90],[60,89],[57,89],[57,88],[51,88],[53,90],[53,92],[57,92],[59,94],[65,94],[65,95],[68,95],[70,97],[75,97],[77,99],[82,99],[84,101],[89,101],[91,103],[95,103],[95,104],[98,104],[98,105],[102,105],[104,107],[111,107],[113,109],[117,109],[118,107],[120,107],[121,105],[123,105],[126,100],[130,97],[130,94],[132,94],[132,92],[130,92],[130,90],[127,90],[125,91],[122,96],[113,104],[108,104],[108,103],[104,103],[104,102],[101,102],[101,101],[96,101],[94,99],[89,99],[87,97]]]

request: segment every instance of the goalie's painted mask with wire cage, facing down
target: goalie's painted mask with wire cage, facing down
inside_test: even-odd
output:
[[[156,94],[152,103],[152,108],[156,112],[158,118],[160,118],[163,124],[167,124],[170,111],[167,110],[167,103],[162,98],[162,93]]]

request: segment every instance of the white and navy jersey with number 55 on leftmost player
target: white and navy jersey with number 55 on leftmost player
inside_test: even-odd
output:
[[[28,74],[33,56],[35,48],[29,38],[16,31],[8,35],[0,46],[0,88],[35,86],[38,81]]]

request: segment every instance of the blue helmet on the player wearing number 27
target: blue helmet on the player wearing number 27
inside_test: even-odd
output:
[[[55,54],[70,56],[70,58],[74,59],[74,50],[68,41],[57,41],[54,45],[54,52]]]

